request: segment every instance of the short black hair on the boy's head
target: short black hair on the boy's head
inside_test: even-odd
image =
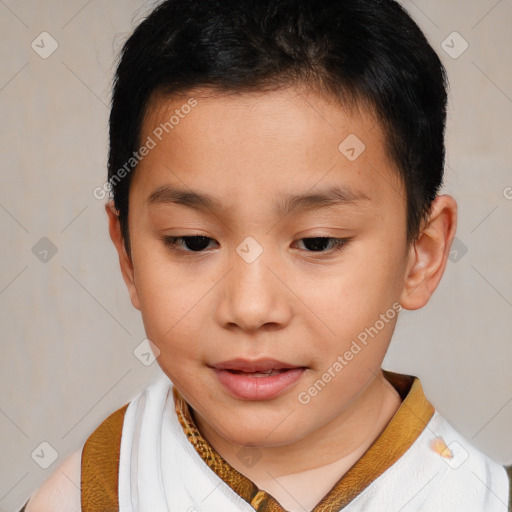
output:
[[[119,57],[108,184],[128,253],[133,172],[120,179],[119,170],[140,147],[153,95],[200,87],[236,93],[302,84],[341,105],[370,107],[405,187],[407,240],[416,239],[443,181],[448,80],[398,2],[166,0],[137,26]]]

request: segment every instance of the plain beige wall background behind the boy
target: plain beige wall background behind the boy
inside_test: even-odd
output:
[[[152,3],[0,1],[2,511],[17,510],[158,371],[132,353],[142,323],[93,197],[105,181],[114,55]],[[467,253],[428,307],[402,314],[385,367],[419,376],[463,435],[511,463],[512,2],[403,4],[448,69],[445,190],[459,202]],[[59,45],[47,59],[31,48],[43,31]],[[469,43],[457,59],[441,47],[454,31]],[[32,250],[43,237],[58,251],[46,263]],[[46,470],[31,458],[42,442],[58,452]]]

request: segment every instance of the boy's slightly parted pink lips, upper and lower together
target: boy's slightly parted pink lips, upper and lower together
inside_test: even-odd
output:
[[[231,359],[211,365],[220,384],[242,400],[270,400],[295,384],[306,370],[276,359]]]

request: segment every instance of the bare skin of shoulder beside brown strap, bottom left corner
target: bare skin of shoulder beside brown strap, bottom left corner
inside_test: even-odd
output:
[[[65,459],[30,498],[25,512],[80,512],[82,450]]]

